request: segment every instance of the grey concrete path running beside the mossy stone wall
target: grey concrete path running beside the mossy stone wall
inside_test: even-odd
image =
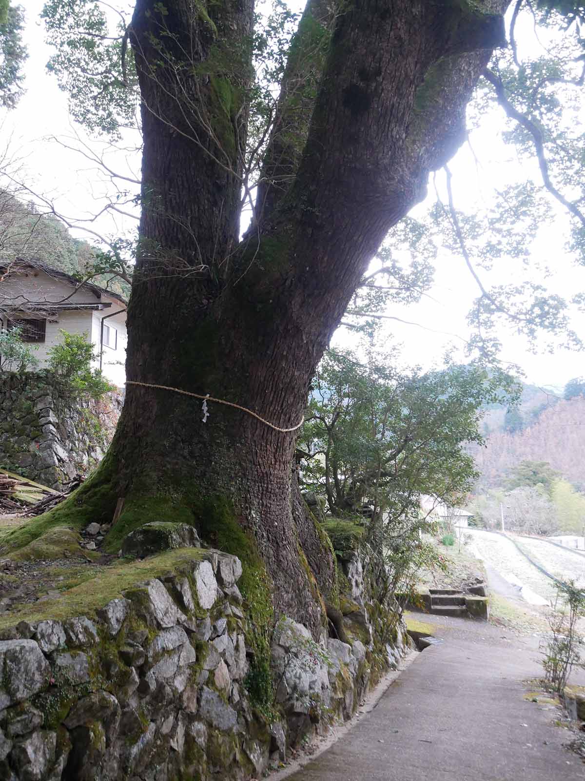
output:
[[[424,616],[428,648],[376,708],[289,781],[583,781],[558,709],[523,699],[541,676],[537,639]],[[441,621],[442,626],[441,626]]]

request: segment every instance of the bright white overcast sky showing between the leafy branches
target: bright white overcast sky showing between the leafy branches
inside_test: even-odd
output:
[[[108,189],[108,183],[97,172],[96,166],[84,161],[72,152],[62,148],[50,137],[71,137],[74,128],[69,121],[67,98],[57,87],[55,79],[45,70],[45,64],[51,54],[44,44],[44,29],[38,15],[43,2],[24,0],[27,12],[26,41],[29,51],[27,61],[27,93],[17,109],[9,112],[2,123],[3,146],[8,146],[11,154],[21,159],[20,177],[37,193],[54,199],[60,212],[78,217],[90,217],[101,207],[101,197]],[[527,45],[534,45],[534,41]],[[453,173],[453,188],[456,205],[459,208],[481,206],[488,201],[493,187],[502,188],[502,184],[520,180],[527,166],[519,166],[510,159],[511,150],[501,141],[503,128],[502,115],[495,111],[482,123],[480,130],[472,135],[473,148],[479,152],[482,168],[477,172],[476,162],[470,148],[464,147],[450,163]],[[132,138],[129,139],[129,142]],[[132,145],[131,143],[129,144]],[[97,145],[97,150],[102,149]],[[121,173],[140,169],[140,158],[131,152],[112,154],[112,164]],[[441,191],[444,192],[442,177],[438,177]],[[429,198],[434,198],[431,187]],[[413,214],[422,213],[419,206]],[[551,204],[550,223],[543,226],[533,246],[534,259],[547,262],[554,269],[554,276],[546,284],[566,298],[578,291],[585,291],[585,269],[577,267],[573,259],[564,251],[566,238],[566,218]],[[101,219],[96,223],[87,223],[98,232],[119,235],[133,230],[131,219],[117,217],[115,223]],[[79,232],[76,235],[81,236]],[[88,236],[90,238],[90,236]],[[486,282],[493,282],[495,276],[502,283],[519,279],[525,273],[537,278],[538,272],[521,269],[509,263],[496,265],[491,276],[484,275]],[[385,324],[385,333],[389,338],[404,345],[404,362],[422,366],[440,365],[445,344],[453,340],[445,333],[449,332],[466,337],[466,314],[470,302],[477,295],[477,286],[466,270],[463,257],[445,256],[438,262],[435,284],[430,291],[432,298],[424,298],[419,305],[392,305],[392,316],[419,323],[420,326],[406,326],[395,321]],[[585,340],[585,316],[576,315],[573,327]],[[527,375],[527,380],[537,384],[562,387],[574,376],[585,375],[585,356],[583,354],[556,350],[554,355],[532,355],[523,338],[512,333],[507,326],[498,334],[501,338],[502,358],[519,364]],[[543,338],[543,342],[544,342]],[[345,329],[335,337],[336,344],[351,344]],[[459,342],[460,344],[460,342]]]

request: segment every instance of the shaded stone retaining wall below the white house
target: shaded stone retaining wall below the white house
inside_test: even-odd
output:
[[[0,469],[58,488],[101,461],[122,410],[119,391],[74,398],[49,374],[0,373]]]

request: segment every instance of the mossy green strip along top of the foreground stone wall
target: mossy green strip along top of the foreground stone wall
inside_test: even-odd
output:
[[[158,556],[145,558],[140,562],[122,561],[102,569],[93,577],[73,588],[62,592],[54,600],[42,604],[26,604],[12,609],[9,615],[0,617],[0,629],[16,626],[19,621],[42,621],[55,619],[62,621],[76,615],[92,615],[97,608],[119,597],[122,591],[135,586],[142,580],[150,580],[165,574],[181,565],[204,558],[206,552],[201,548],[179,548]]]

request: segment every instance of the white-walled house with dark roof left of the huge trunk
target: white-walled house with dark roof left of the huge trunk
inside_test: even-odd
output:
[[[126,381],[126,301],[113,291],[41,261],[0,262],[0,326],[22,327],[41,368],[62,330],[85,334],[101,353],[96,366],[104,376],[118,386]]]

